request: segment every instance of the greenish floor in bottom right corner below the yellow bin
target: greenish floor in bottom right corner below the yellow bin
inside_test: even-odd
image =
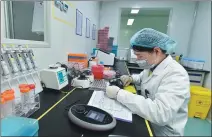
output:
[[[199,118],[189,118],[184,136],[211,136],[211,123]]]

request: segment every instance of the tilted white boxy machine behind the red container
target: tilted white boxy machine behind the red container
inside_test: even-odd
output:
[[[104,65],[113,66],[115,54],[108,53],[102,50],[96,50],[96,57],[99,59],[99,62],[103,62]]]

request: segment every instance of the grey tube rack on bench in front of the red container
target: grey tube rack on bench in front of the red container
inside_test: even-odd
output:
[[[108,83],[109,84],[109,83]],[[102,90],[105,91],[107,87],[107,82],[102,79],[102,80],[94,80],[93,83],[90,85],[90,90]]]

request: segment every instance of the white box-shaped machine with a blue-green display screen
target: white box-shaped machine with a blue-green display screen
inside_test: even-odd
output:
[[[62,67],[44,69],[40,72],[40,77],[46,88],[60,90],[68,85],[67,73]]]

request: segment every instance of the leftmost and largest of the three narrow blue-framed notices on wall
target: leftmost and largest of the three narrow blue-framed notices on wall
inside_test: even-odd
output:
[[[76,34],[82,36],[83,14],[76,9]]]

